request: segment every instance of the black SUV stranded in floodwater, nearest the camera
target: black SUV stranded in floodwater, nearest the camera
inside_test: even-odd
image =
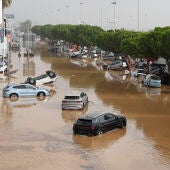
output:
[[[88,136],[101,135],[126,126],[126,118],[112,113],[90,113],[80,117],[73,125],[73,133]]]

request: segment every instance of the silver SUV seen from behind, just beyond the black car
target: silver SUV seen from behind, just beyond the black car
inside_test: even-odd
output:
[[[62,100],[62,109],[83,109],[88,103],[88,96],[82,91],[72,91]]]

